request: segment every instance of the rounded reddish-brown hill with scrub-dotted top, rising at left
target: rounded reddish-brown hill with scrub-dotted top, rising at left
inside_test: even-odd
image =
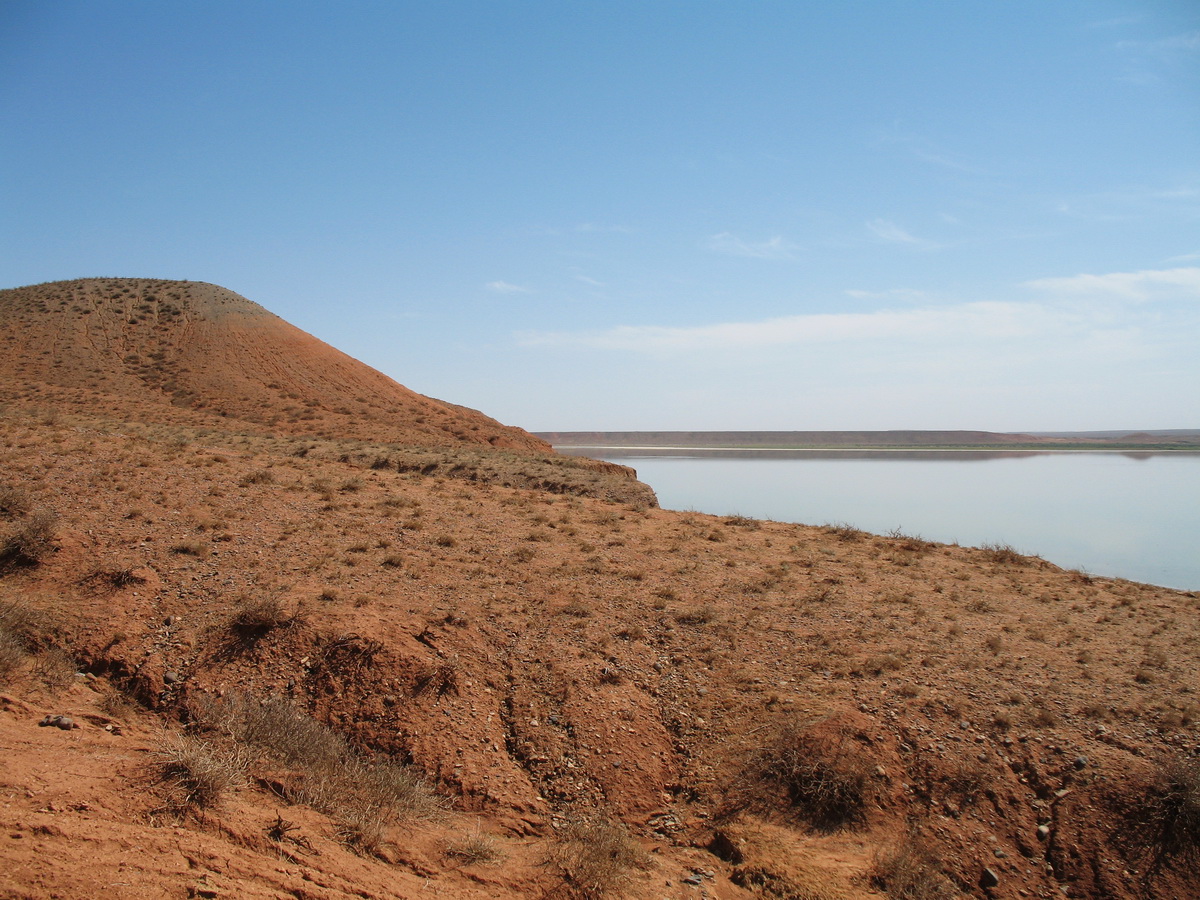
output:
[[[95,407],[150,403],[284,433],[550,452],[520,428],[415,394],[202,282],[84,278],[0,290],[0,384],[10,400],[43,384],[47,402],[72,406],[53,388],[86,391]]]

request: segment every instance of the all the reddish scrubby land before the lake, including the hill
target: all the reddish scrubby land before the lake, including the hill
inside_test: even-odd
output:
[[[1200,596],[413,394],[209,284],[0,292],[0,896],[1200,896]]]

